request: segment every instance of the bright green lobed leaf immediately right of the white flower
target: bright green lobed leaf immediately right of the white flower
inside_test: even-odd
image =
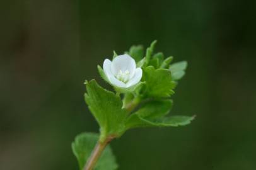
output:
[[[148,66],[143,72],[143,81],[146,81],[146,96],[170,97],[174,91],[172,74],[168,69],[154,69]]]

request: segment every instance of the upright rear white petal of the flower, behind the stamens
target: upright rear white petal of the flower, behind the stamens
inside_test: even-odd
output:
[[[136,62],[130,55],[124,54],[124,55],[119,55],[115,57],[112,61],[111,65],[111,71],[113,75],[117,76],[119,71],[125,72],[129,71],[131,72],[131,77],[134,76],[135,70],[136,70]]]

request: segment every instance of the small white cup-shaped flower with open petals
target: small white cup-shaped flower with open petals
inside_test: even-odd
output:
[[[108,81],[119,88],[134,86],[143,76],[141,68],[136,69],[136,62],[130,55],[124,54],[115,57],[112,61],[105,59],[103,71]]]

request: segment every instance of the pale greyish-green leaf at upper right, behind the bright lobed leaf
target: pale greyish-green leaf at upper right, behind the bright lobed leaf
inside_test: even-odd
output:
[[[185,75],[185,69],[187,68],[187,62],[176,62],[170,65],[170,71],[172,72],[173,81],[181,79]]]

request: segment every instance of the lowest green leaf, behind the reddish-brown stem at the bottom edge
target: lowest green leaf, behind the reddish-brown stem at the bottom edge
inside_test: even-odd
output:
[[[97,133],[81,133],[76,136],[72,143],[72,150],[76,159],[78,159],[79,169],[83,170],[86,161],[91,155],[96,142],[99,138]],[[108,145],[98,159],[95,165],[95,170],[114,170],[118,165],[115,161],[115,156],[112,153],[110,145]]]

